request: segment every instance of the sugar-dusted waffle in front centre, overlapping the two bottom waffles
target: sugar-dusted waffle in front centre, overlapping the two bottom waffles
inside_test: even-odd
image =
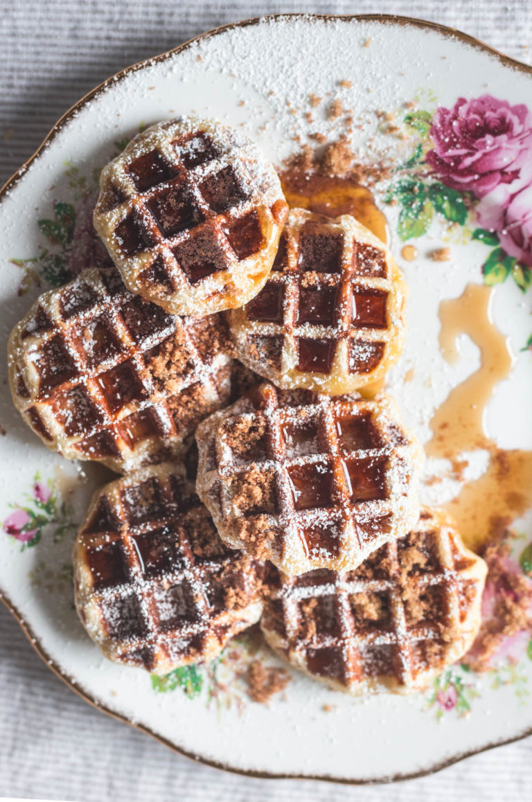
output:
[[[284,573],[355,568],[419,516],[421,449],[395,404],[264,383],[196,432],[220,537]]]

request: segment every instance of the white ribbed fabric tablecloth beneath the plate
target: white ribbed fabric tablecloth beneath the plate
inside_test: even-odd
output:
[[[225,22],[280,11],[379,11],[442,22],[516,59],[532,57],[532,0],[2,0],[0,8],[0,184],[95,84]],[[530,800],[531,786],[532,739],[395,787],[217,772],[92,710],[47,670],[18,624],[0,609],[0,796],[77,802],[520,802]]]

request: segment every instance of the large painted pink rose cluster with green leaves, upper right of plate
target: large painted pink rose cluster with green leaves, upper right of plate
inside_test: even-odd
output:
[[[532,283],[532,114],[526,106],[482,95],[434,113],[409,111],[405,136],[414,149],[398,168],[388,202],[400,205],[397,233],[421,237],[440,214],[491,250],[484,281],[511,276]]]

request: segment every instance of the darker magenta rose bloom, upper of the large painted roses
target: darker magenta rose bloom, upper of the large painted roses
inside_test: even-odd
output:
[[[532,115],[522,103],[482,95],[440,107],[430,128],[434,148],[426,160],[446,186],[483,197],[522,178],[532,161]],[[526,172],[530,173],[530,169]]]

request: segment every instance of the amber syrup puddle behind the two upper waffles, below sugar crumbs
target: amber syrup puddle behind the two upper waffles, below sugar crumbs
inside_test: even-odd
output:
[[[388,223],[368,187],[347,176],[322,176],[317,172],[285,170],[279,174],[290,209],[308,209],[327,217],[351,214],[385,244]]]

